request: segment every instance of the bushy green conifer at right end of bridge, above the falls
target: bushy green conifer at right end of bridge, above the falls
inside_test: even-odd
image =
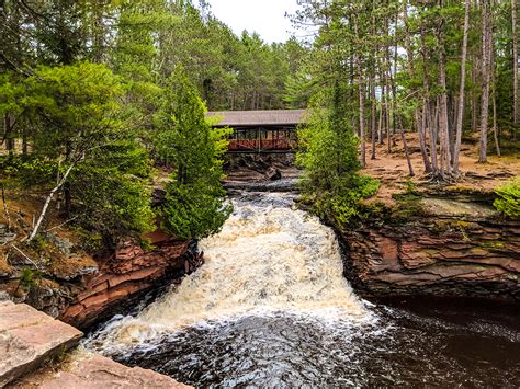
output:
[[[312,210],[349,228],[362,216],[362,201],[377,193],[380,183],[358,173],[358,139],[343,95],[337,83],[316,96],[312,116],[298,130],[302,149],[296,162],[305,169],[299,184]]]

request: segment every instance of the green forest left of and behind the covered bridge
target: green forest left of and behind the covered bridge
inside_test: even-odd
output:
[[[218,229],[226,131],[211,110],[279,108],[305,49],[238,37],[190,1],[3,1],[2,190],[49,204],[104,245],[154,228],[181,238]],[[155,168],[174,165],[163,209]],[[53,203],[54,204],[54,203]]]

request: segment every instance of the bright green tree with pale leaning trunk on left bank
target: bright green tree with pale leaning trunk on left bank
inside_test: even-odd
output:
[[[57,174],[30,239],[65,184],[66,202],[76,201],[75,215],[106,241],[147,230],[152,220],[145,186],[148,158],[117,116],[118,79],[103,65],[78,64],[41,67],[25,84],[23,104],[39,123],[31,159],[50,164]],[[65,210],[70,214],[72,203]]]

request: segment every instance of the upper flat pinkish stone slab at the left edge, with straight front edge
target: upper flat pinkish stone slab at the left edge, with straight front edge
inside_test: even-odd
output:
[[[25,304],[0,301],[0,387],[65,353],[82,335]]]

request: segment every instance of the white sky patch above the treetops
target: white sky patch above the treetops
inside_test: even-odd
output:
[[[296,0],[208,0],[212,13],[235,34],[257,32],[268,42],[285,42],[293,31],[285,12],[294,13]]]

